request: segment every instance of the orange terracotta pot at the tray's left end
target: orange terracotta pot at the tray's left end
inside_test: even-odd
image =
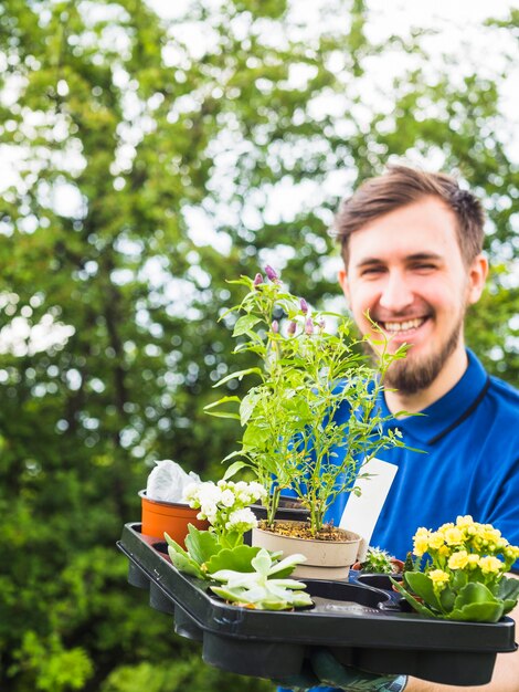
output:
[[[142,510],[140,532],[146,536],[153,536],[163,541],[163,535],[167,533],[179,545],[186,547],[184,538],[188,535],[188,524],[193,524],[200,531],[209,528],[209,522],[197,518],[199,510],[193,510],[187,504],[149,500],[145,490],[140,491],[139,496]]]

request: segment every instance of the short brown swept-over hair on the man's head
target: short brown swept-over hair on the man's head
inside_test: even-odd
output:
[[[333,223],[333,235],[341,243],[348,264],[351,233],[394,209],[412,205],[425,197],[437,197],[457,219],[457,237],[465,264],[468,266],[481,252],[485,212],[474,195],[462,190],[455,178],[432,174],[409,166],[391,166],[388,171],[366,180],[342,201]]]

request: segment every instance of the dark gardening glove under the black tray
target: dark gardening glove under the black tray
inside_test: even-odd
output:
[[[407,678],[405,675],[377,675],[350,665],[342,665],[328,649],[311,650],[310,660],[298,675],[290,675],[277,681],[283,685],[279,692],[293,690],[316,690],[319,692],[402,692]]]

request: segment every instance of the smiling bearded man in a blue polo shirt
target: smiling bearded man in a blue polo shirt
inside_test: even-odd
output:
[[[519,392],[489,377],[464,340],[466,310],[487,275],[483,226],[481,205],[455,179],[404,166],[366,181],[336,218],[339,282],[360,331],[375,337],[371,319],[390,349],[409,345],[388,373],[380,406],[422,413],[399,427],[425,453],[381,454],[398,472],[371,543],[399,557],[419,526],[465,514],[519,543]],[[338,523],[345,504],[328,518]],[[414,679],[405,689],[473,690]],[[499,656],[491,683],[474,690],[519,692],[519,654]]]

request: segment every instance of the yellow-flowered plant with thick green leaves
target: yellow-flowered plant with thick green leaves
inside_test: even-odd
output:
[[[403,584],[392,579],[398,591],[427,617],[477,622],[497,622],[515,608],[519,580],[505,575],[519,557],[490,524],[458,516],[437,531],[419,528],[414,555],[426,557],[404,572]],[[427,557],[428,556],[428,557]]]

